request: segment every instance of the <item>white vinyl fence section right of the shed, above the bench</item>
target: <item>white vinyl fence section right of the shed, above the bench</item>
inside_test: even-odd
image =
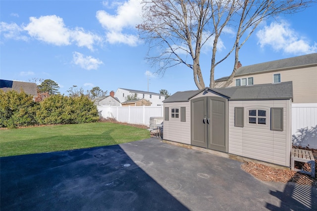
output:
[[[292,141],[317,149],[317,104],[292,104]]]

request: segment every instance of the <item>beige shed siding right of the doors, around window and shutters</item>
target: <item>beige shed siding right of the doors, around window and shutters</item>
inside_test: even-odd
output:
[[[244,107],[244,127],[234,126],[234,107]],[[283,131],[270,130],[270,107],[283,107]],[[265,109],[266,125],[248,121],[248,109]],[[289,100],[229,101],[228,153],[289,166],[290,114]]]

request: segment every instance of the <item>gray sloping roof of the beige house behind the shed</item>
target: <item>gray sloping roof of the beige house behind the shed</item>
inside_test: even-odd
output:
[[[259,72],[282,70],[289,68],[300,68],[307,65],[317,65],[317,53],[311,53],[307,55],[301,55],[291,58],[284,58],[274,61],[263,62],[259,64],[253,64],[248,66],[239,67],[236,71],[235,76],[248,75]],[[221,81],[228,79],[229,76],[219,78],[215,81]]]

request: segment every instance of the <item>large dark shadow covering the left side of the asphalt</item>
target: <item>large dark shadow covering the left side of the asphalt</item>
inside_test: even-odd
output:
[[[119,145],[0,161],[1,211],[188,210]]]

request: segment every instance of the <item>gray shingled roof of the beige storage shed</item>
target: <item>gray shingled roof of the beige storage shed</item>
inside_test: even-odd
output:
[[[252,86],[206,89],[228,97],[229,101],[293,99],[293,84],[291,81],[276,84],[259,84]],[[198,95],[201,92],[205,92],[206,89],[176,92],[163,102],[188,102],[192,97]]]

